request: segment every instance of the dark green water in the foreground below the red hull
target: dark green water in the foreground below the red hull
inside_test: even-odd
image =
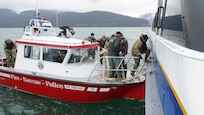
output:
[[[144,101],[73,103],[0,87],[0,115],[144,115]]]

